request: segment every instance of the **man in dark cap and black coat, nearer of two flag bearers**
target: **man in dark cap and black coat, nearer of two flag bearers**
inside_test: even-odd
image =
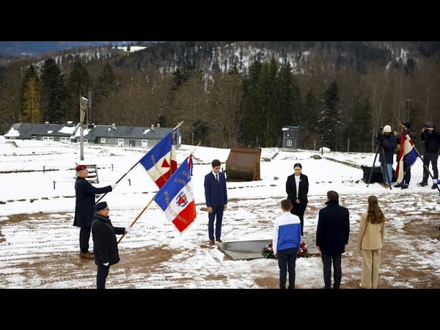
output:
[[[105,289],[105,280],[109,276],[111,265],[120,261],[116,234],[130,232],[130,227],[113,227],[109,218],[109,206],[105,201],[95,206],[94,222],[91,223],[91,235],[94,240],[96,273],[96,289]]]

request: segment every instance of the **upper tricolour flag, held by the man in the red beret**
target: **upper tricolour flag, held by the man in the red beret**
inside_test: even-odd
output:
[[[159,188],[177,170],[175,135],[176,129],[153,146],[139,161]]]

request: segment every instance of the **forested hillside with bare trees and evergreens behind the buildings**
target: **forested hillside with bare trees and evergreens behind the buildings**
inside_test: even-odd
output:
[[[276,146],[300,126],[303,148],[369,151],[379,126],[440,124],[439,42],[167,41],[5,60],[0,133],[12,122],[174,126],[184,143]],[[136,51],[133,51],[136,50]],[[0,58],[1,61],[1,58]]]

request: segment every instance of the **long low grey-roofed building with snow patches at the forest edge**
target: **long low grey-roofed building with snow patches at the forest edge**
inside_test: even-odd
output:
[[[6,133],[6,140],[45,140],[80,143],[80,124],[29,124],[19,122],[12,125]],[[150,148],[157,144],[172,128],[151,125],[151,127],[86,125],[83,126],[85,144],[104,144],[107,146],[140,146]],[[181,132],[176,137],[175,146],[181,144]]]

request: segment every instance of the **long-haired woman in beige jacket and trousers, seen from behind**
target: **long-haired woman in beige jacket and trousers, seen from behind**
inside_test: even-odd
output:
[[[377,197],[369,197],[369,208],[360,218],[359,243],[362,250],[362,276],[360,287],[377,289],[380,255],[385,236],[385,216]]]

